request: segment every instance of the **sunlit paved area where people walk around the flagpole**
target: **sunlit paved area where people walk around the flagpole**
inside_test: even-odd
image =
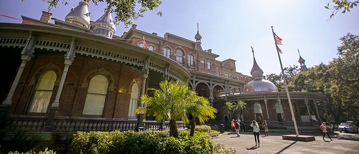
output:
[[[322,134],[312,134],[316,139],[312,142],[282,140],[284,133],[270,133],[269,137],[263,135],[264,133],[261,133],[259,137],[260,148],[254,147],[253,133],[241,133],[237,138],[236,134],[226,132],[212,141],[233,147],[239,154],[359,154],[358,134],[332,133],[331,142],[327,136],[327,141],[323,141]]]

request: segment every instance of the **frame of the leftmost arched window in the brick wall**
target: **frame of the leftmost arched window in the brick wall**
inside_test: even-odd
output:
[[[31,107],[31,103],[32,103],[32,100],[34,98],[34,94],[35,94],[35,91],[36,91],[36,86],[37,86],[37,83],[40,79],[40,76],[46,72],[46,71],[53,71],[55,74],[56,74],[56,79],[55,79],[55,82],[54,82],[54,85],[52,87],[52,93],[51,93],[51,97],[53,96],[53,92],[54,92],[54,87],[56,85],[56,81],[57,81],[57,78],[59,77],[58,74],[56,73],[56,71],[54,69],[45,69],[45,70],[42,70],[36,77],[36,82],[32,85],[32,88],[31,88],[31,92],[30,92],[30,99],[27,100],[27,103],[26,103],[26,106],[25,106],[25,110],[23,111],[23,114],[27,114],[27,115],[46,115],[47,113],[47,110],[48,110],[48,107],[50,105],[50,102],[51,102],[51,97],[50,97],[50,101],[49,103],[47,104],[47,109],[46,109],[46,112],[42,113],[42,112],[29,112],[28,110],[30,109]],[[44,90],[44,91],[50,91],[50,90]],[[57,92],[57,91],[56,91]]]

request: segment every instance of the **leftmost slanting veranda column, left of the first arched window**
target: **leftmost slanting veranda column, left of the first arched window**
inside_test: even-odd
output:
[[[11,105],[11,103],[12,103],[12,95],[13,95],[13,93],[15,92],[17,83],[18,83],[18,81],[20,80],[20,77],[21,77],[21,75],[22,75],[22,72],[23,72],[23,70],[24,70],[24,68],[25,68],[25,66],[26,66],[26,63],[27,63],[28,61],[30,61],[31,57],[32,57],[32,56],[28,56],[28,55],[22,55],[22,56],[21,56],[21,60],[22,60],[22,61],[21,61],[21,65],[20,65],[20,67],[19,67],[19,70],[17,71],[17,74],[16,74],[16,77],[15,77],[14,81],[12,82],[10,91],[9,91],[9,93],[7,94],[6,99],[2,102],[2,104],[4,104],[4,105]]]

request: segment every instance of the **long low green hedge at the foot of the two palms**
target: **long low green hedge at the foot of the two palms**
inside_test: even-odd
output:
[[[213,143],[208,133],[196,132],[193,137],[181,131],[179,138],[168,132],[78,132],[70,146],[70,154],[211,154]]]

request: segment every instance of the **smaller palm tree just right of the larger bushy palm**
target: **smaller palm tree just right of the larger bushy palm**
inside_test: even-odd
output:
[[[189,136],[194,135],[195,128],[195,118],[198,118],[201,124],[204,124],[204,121],[209,119],[214,119],[214,113],[217,113],[217,110],[210,106],[208,99],[201,96],[192,96],[191,101],[189,102],[187,112],[192,115],[190,134]]]

